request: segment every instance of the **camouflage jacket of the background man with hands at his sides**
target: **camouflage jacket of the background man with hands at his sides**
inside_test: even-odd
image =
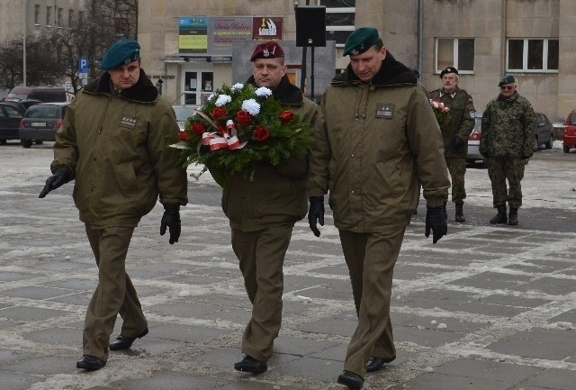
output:
[[[482,114],[482,156],[528,159],[534,151],[536,115],[532,104],[516,92],[492,99]]]

